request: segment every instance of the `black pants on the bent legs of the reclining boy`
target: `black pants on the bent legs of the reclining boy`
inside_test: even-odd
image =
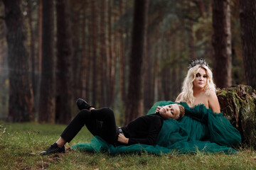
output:
[[[84,125],[86,125],[92,135],[100,136],[109,144],[114,144],[117,126],[114,113],[110,108],[93,109],[92,111],[83,109],[79,111],[60,136],[66,142],[70,142]]]

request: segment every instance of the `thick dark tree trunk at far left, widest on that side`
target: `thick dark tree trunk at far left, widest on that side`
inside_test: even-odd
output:
[[[11,122],[33,120],[33,91],[28,72],[26,29],[21,1],[4,0],[9,66],[9,115]]]

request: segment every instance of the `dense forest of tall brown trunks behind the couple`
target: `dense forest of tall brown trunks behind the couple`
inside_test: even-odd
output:
[[[256,2],[1,0],[0,119],[68,123],[77,98],[119,113],[175,101],[188,64],[256,89]],[[246,69],[245,69],[246,68]]]

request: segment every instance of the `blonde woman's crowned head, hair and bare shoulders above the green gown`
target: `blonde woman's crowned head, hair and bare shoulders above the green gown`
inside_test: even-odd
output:
[[[181,101],[186,102],[190,107],[204,104],[213,112],[220,113],[220,104],[213,83],[213,73],[205,60],[196,60],[189,65],[181,94],[176,98],[176,102]]]

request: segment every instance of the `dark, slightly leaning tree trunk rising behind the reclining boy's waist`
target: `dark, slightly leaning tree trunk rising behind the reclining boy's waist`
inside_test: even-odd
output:
[[[132,53],[129,58],[129,86],[125,124],[142,115],[142,63],[144,53],[144,38],[146,37],[146,16],[149,1],[134,0],[134,23],[132,29]]]

